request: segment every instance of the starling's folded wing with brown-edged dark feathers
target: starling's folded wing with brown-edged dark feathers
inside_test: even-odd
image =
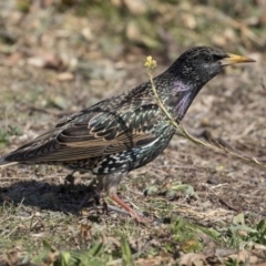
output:
[[[157,139],[157,105],[120,112],[93,111],[73,115],[4,157],[9,162],[55,162],[120,153]]]

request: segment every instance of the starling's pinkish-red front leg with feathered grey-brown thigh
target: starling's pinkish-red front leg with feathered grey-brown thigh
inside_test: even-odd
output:
[[[125,202],[123,202],[116,194],[116,186],[119,185],[122,178],[122,174],[111,174],[105,176],[99,176],[99,182],[102,187],[108,192],[108,195],[112,201],[117,203],[121,207],[123,207],[132,217],[134,217],[140,223],[150,223],[152,222],[147,217],[140,215],[132,207],[130,207]]]

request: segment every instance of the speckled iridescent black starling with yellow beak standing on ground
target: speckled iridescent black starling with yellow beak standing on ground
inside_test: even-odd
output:
[[[200,90],[226,65],[254,60],[209,47],[184,52],[165,72],[154,78],[157,94],[178,123]],[[175,127],[157,105],[151,82],[103,100],[60,121],[53,129],[0,158],[12,164],[60,164],[96,175],[99,190],[133,217],[144,217],[117,195],[116,186],[132,170],[161,154]]]

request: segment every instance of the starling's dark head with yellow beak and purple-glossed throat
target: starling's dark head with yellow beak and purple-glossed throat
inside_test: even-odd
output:
[[[172,106],[182,120],[200,90],[225,66],[255,60],[226,53],[209,47],[195,47],[183,54],[165,71],[172,80]],[[175,100],[176,99],[176,100]],[[174,103],[175,101],[175,103]]]

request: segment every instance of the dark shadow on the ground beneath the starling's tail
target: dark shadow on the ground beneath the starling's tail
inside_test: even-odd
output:
[[[35,180],[19,181],[9,186],[0,187],[0,206],[6,204],[13,204],[14,206],[22,204],[37,211],[49,209],[73,215],[80,214],[81,204],[82,208],[88,209],[101,207],[99,195],[88,185],[68,181],[63,184]]]

